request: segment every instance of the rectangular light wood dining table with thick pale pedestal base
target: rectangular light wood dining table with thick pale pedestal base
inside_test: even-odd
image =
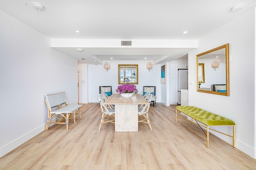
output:
[[[112,94],[104,102],[105,105],[115,105],[115,131],[138,131],[138,106],[149,104],[140,94],[133,94],[130,98],[124,98],[120,94]]]

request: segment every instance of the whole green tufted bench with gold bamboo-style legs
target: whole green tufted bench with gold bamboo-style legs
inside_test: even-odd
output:
[[[233,136],[222,133],[220,131],[216,131],[214,129],[210,129],[213,131],[216,131],[218,133],[222,133],[223,135],[227,135],[229,137],[233,138],[233,147],[235,147],[235,123],[234,121],[227,119],[226,117],[222,117],[220,115],[211,113],[209,111],[200,109],[198,107],[194,107],[194,106],[177,106],[176,107],[176,123],[177,123],[177,118],[189,121],[187,119],[184,119],[182,117],[178,117],[177,116],[177,110],[185,113],[186,115],[188,115],[189,117],[192,118],[192,123],[194,123],[194,120],[196,121],[196,123],[199,125],[198,121],[203,123],[204,125],[206,125],[206,137],[207,137],[207,148],[209,148],[209,127],[210,126],[233,126]],[[191,122],[191,121],[190,121]],[[196,124],[195,123],[195,124]],[[199,127],[202,129],[202,127],[205,127],[203,125],[199,125]],[[203,129],[202,129],[203,130]],[[204,132],[204,131],[203,131]]]

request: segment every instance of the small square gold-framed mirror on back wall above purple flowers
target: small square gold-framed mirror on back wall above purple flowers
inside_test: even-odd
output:
[[[118,84],[138,84],[138,64],[118,64]]]

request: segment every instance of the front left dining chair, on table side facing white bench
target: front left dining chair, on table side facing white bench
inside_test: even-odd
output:
[[[115,117],[115,109],[108,109],[108,107],[104,105],[104,96],[102,94],[98,94],[98,98],[100,101],[100,109],[102,111],[100,127],[101,125],[103,125],[103,123],[108,123],[108,122],[115,123],[115,119],[112,119],[113,116]],[[99,127],[99,130],[100,130],[100,127]]]

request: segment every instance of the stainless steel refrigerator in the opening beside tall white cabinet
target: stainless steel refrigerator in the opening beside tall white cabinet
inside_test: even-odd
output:
[[[188,69],[178,69],[178,104],[180,104],[181,89],[188,89]]]

